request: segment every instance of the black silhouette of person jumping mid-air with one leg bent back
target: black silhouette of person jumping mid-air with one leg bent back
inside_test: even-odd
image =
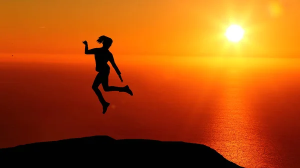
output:
[[[114,62],[112,53],[108,50],[109,47],[112,44],[112,39],[105,36],[105,35],[102,35],[97,39],[97,42],[102,43],[103,46],[100,47],[100,48],[88,49],[87,41],[83,41],[82,43],[85,44],[84,53],[85,54],[94,54],[94,57],[95,57],[96,71],[98,72],[98,74],[96,75],[91,87],[94,90],[94,92],[96,93],[96,95],[98,96],[98,99],[102,104],[102,107],[103,107],[103,112],[102,113],[104,114],[110,103],[106,102],[104,100],[104,97],[103,97],[101,91],[98,88],[98,86],[101,83],[102,83],[102,87],[103,87],[104,91],[126,92],[130,95],[133,95],[133,93],[130,90],[128,85],[126,85],[124,87],[117,87],[117,86],[109,86],[108,85],[108,75],[109,75],[109,71],[110,71],[110,67],[107,64],[108,61],[111,63],[112,67],[116,71],[116,73],[119,76],[121,82],[123,82],[123,79],[121,77],[120,70],[118,69],[118,67],[116,66],[116,64]]]

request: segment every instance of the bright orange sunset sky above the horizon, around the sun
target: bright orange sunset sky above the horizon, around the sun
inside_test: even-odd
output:
[[[111,37],[115,54],[267,54],[300,51],[297,0],[2,0],[0,52],[82,53]],[[245,38],[230,44],[230,23]]]

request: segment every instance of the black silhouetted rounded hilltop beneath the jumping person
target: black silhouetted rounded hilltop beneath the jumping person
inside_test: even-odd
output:
[[[203,144],[147,139],[116,140],[109,136],[37,142],[0,149],[0,166],[13,165],[240,167]]]

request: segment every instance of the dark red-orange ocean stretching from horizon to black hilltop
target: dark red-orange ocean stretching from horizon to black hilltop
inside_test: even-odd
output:
[[[91,55],[1,54],[0,147],[109,135],[205,144],[244,167],[300,165],[300,59],[115,56],[109,85],[91,89]]]

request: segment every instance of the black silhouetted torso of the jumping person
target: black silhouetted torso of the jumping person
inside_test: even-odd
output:
[[[96,62],[96,71],[109,70],[110,67],[107,64],[111,57],[111,52],[108,49],[99,48],[98,52],[94,54]]]

